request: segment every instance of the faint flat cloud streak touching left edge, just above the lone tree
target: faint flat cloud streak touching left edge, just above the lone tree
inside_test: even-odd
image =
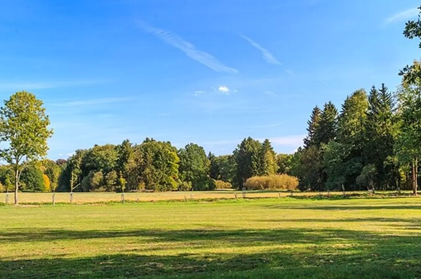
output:
[[[34,90],[49,89],[59,87],[86,86],[105,83],[104,80],[69,80],[69,81],[50,81],[50,82],[17,82],[1,83],[0,90]]]

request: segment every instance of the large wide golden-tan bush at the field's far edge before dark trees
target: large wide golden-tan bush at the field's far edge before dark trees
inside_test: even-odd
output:
[[[296,190],[298,179],[288,174],[250,177],[244,187],[247,190]]]

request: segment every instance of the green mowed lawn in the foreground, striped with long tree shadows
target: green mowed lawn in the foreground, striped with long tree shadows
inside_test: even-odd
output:
[[[420,278],[421,198],[0,207],[0,278]]]

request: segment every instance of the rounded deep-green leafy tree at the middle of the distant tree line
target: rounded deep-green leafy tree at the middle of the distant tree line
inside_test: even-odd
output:
[[[193,190],[213,190],[214,183],[210,179],[210,161],[203,147],[190,143],[178,152],[180,158],[180,179],[191,182]]]

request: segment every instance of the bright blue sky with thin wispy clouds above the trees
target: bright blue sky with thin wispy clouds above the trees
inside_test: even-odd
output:
[[[45,102],[52,159],[145,137],[231,153],[302,144],[315,105],[419,59],[419,1],[0,0],[0,98]]]

